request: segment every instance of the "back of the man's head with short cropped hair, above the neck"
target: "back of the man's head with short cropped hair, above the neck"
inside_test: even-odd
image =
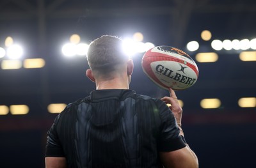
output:
[[[104,76],[120,70],[129,57],[122,49],[122,40],[116,36],[104,35],[89,45],[87,60],[96,75]]]

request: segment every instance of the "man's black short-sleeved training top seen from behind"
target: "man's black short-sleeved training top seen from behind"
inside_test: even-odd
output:
[[[70,103],[47,134],[45,157],[65,157],[68,167],[163,167],[158,151],[186,146],[167,105],[129,89]]]

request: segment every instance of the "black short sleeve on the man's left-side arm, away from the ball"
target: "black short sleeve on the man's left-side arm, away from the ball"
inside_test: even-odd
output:
[[[63,112],[67,110],[64,109]],[[63,148],[61,146],[60,139],[58,137],[57,132],[57,125],[59,123],[59,120],[61,118],[61,112],[54,120],[54,123],[52,124],[51,128],[47,132],[47,142],[46,142],[46,148],[45,148],[45,157],[65,157]]]

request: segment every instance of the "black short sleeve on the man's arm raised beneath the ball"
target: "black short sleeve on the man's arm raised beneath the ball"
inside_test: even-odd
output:
[[[169,107],[161,100],[157,100],[160,119],[160,134],[158,139],[159,151],[175,151],[184,148],[186,144],[180,137],[180,130],[176,119]]]

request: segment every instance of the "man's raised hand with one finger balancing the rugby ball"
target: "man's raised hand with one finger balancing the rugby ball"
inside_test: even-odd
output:
[[[179,105],[178,98],[173,89],[169,88],[170,97],[164,96],[161,100],[164,103],[170,103],[170,109],[173,112],[174,117],[176,118],[178,126],[181,126],[181,118],[182,118],[182,108]]]

